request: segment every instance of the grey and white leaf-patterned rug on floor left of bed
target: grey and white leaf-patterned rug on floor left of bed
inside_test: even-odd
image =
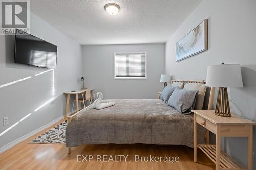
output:
[[[29,143],[65,144],[67,120],[41,134]]]

